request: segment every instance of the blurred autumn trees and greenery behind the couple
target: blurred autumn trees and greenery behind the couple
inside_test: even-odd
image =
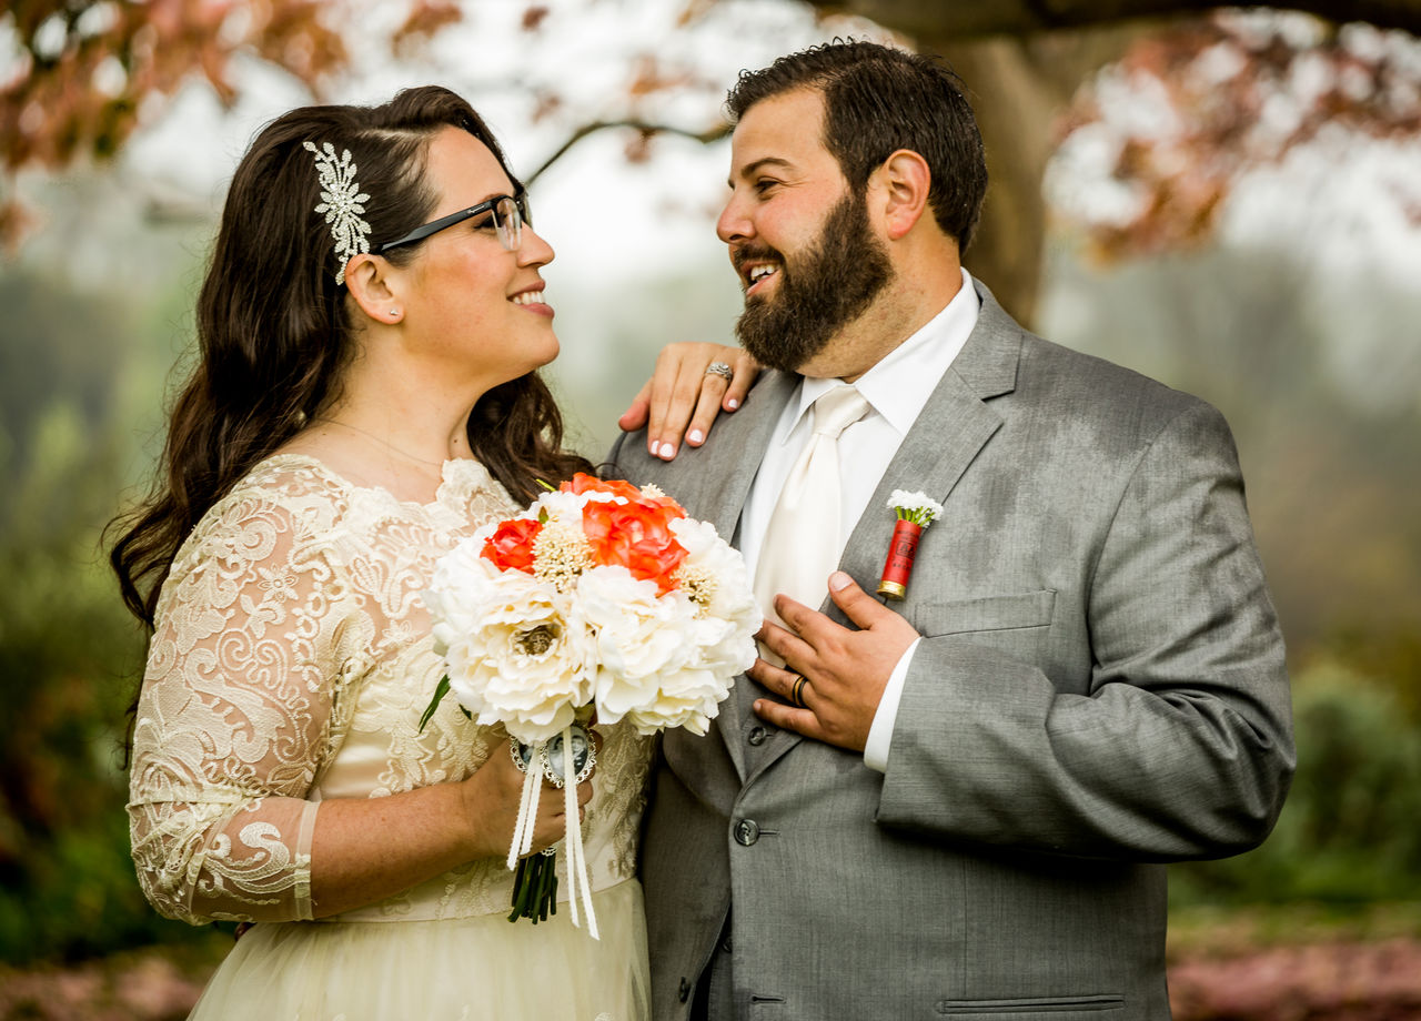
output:
[[[426,80],[495,104],[560,249],[553,381],[597,459],[651,352],[733,321],[709,220],[735,71],[836,33],[909,41],[796,0],[374,10],[0,13],[0,1018],[180,1017],[230,940],[153,914],[126,855],[144,636],[102,528],[161,444],[220,202],[129,152],[196,92],[247,108],[253,68],[281,105]],[[604,21],[615,45],[587,67],[558,50]],[[969,268],[1049,338],[1225,412],[1289,639],[1297,780],[1260,849],[1172,869],[1177,1017],[1421,1017],[1421,43],[1191,13],[966,38],[952,60],[998,160]],[[688,223],[702,247],[664,257]]]

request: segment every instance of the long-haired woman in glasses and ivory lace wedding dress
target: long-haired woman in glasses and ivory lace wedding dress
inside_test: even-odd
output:
[[[442,88],[293,111],[237,168],[163,477],[112,554],[153,629],[139,880],[163,914],[256,923],[195,1018],[648,1014],[648,743],[604,728],[577,791],[593,940],[566,910],[507,920],[522,774],[502,730],[450,699],[419,730],[442,675],[419,599],[435,559],[591,470],[536,375],[558,349],[551,260],[497,142]],[[753,366],[709,345],[658,378],[679,359],[684,392],[712,356],[743,395]],[[534,849],[563,805],[540,799]]]

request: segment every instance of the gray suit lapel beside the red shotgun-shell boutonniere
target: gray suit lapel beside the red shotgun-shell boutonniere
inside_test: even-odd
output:
[[[865,592],[871,594],[878,588],[888,555],[895,515],[887,504],[892,491],[926,493],[942,503],[944,518],[951,521],[952,488],[1002,426],[1002,416],[986,400],[1015,389],[1023,332],[982,284],[978,284],[978,294],[982,308],[976,327],[928,398],[912,429],[904,436],[844,547],[838,567]],[[924,542],[931,535],[931,531],[926,533]],[[921,554],[922,550],[919,558]],[[833,599],[826,598],[820,611],[841,625],[853,626]],[[749,711],[749,703],[745,704],[745,711]],[[747,780],[753,780],[800,740],[803,738],[793,731],[776,733],[760,746],[749,767]]]

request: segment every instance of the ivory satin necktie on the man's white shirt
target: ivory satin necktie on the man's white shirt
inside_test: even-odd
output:
[[[853,386],[836,386],[813,406],[814,435],[784,479],[770,513],[755,569],[755,595],[769,621],[780,623],[774,595],[818,609],[840,554],[838,435],[868,413]]]

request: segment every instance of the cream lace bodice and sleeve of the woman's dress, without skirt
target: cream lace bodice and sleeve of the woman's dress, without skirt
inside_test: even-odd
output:
[[[419,592],[435,559],[514,510],[477,462],[449,462],[415,504],[284,454],[207,513],[163,585],[134,738],[134,861],[163,914],[310,919],[323,799],[463,780],[503,741],[452,699],[419,733],[443,672]],[[594,889],[632,875],[651,747],[625,727],[603,738]],[[342,917],[487,914],[510,889],[502,861],[470,862]]]

